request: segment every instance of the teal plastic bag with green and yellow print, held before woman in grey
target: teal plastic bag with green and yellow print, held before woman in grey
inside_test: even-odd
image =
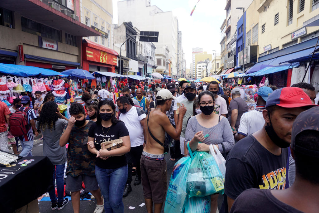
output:
[[[206,152],[192,153],[190,148],[189,153],[192,158],[186,181],[186,192],[189,197],[205,197],[215,193],[224,193],[225,178],[214,157]]]

